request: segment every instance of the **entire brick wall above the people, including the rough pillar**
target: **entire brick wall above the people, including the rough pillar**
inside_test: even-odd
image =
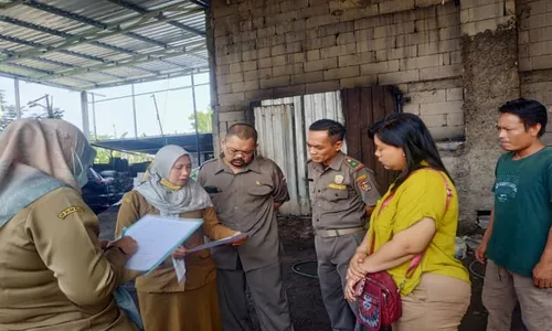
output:
[[[551,0],[213,0],[211,26],[215,135],[251,100],[396,85],[436,140],[466,137],[439,143],[465,224],[492,203],[496,109],[552,104]]]

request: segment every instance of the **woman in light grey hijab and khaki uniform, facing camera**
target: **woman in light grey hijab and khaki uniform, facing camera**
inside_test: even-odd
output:
[[[204,235],[221,239],[236,232],[220,224],[209,194],[189,178],[191,167],[191,157],[183,148],[173,145],[161,148],[144,182],[124,196],[117,216],[116,236],[148,214],[203,218],[203,227],[172,254],[173,258],[185,263],[183,284],[178,281],[170,258],[151,274],[137,278],[136,288],[146,331],[222,330],[211,253],[203,249],[187,254],[185,250],[202,245]]]

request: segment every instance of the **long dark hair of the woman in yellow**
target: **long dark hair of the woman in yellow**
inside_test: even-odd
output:
[[[429,167],[435,170],[445,172],[448,178],[453,180],[440,160],[440,156],[429,130],[416,115],[408,113],[389,115],[370,128],[369,136],[371,139],[378,136],[378,139],[382,142],[400,147],[404,150],[406,167],[395,180],[395,184],[392,189],[393,191],[395,191],[413,171],[427,167],[422,164],[422,161],[426,161]]]

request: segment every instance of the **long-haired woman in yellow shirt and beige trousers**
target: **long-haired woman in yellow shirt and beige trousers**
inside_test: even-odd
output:
[[[355,299],[354,286],[365,275],[386,270],[401,290],[403,308],[393,330],[457,330],[471,288],[466,268],[454,257],[454,182],[420,117],[390,115],[370,136],[378,160],[400,174],[375,206],[369,232],[351,258],[346,297]],[[416,256],[420,264],[407,277]]]

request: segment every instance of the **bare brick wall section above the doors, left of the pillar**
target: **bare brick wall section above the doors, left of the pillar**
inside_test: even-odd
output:
[[[220,130],[252,100],[397,85],[437,139],[463,136],[460,9],[442,3],[213,0]]]

